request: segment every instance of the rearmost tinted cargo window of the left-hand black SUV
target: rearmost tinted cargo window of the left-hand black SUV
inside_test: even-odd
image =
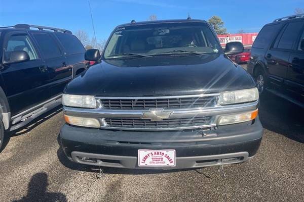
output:
[[[76,36],[65,33],[58,33],[56,36],[65,48],[67,54],[85,53],[83,44],[78,40]]]

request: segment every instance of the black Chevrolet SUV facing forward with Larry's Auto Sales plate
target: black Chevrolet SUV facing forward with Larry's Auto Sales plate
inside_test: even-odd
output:
[[[202,20],[123,24],[95,65],[67,84],[60,142],[88,165],[177,169],[252,158],[263,129],[253,78]]]

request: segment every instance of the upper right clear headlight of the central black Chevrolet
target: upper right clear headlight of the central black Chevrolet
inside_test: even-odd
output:
[[[258,99],[257,88],[250,88],[244,90],[234,90],[221,92],[218,104],[219,105],[231,105],[238,103],[248,103],[253,102]]]

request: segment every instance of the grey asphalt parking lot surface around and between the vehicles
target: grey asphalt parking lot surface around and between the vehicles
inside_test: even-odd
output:
[[[264,136],[249,162],[199,170],[98,168],[69,162],[60,109],[12,133],[0,154],[1,201],[304,201],[304,110],[267,94]]]

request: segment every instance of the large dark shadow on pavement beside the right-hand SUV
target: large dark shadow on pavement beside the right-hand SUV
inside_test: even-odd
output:
[[[260,98],[259,118],[267,130],[304,143],[304,109],[268,93]]]

